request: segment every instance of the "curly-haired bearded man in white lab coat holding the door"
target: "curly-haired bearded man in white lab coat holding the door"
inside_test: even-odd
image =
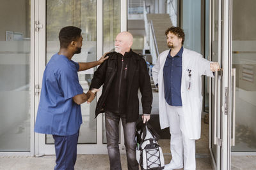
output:
[[[160,53],[152,69],[159,89],[161,129],[170,127],[171,134],[172,160],[164,169],[180,169],[183,162],[184,169],[196,169],[195,140],[201,133],[202,75],[213,76],[212,72],[220,66],[184,48],[185,35],[180,27],[170,27],[165,34],[170,50]]]

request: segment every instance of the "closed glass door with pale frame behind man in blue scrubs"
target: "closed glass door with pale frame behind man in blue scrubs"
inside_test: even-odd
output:
[[[83,46],[81,53],[74,55],[76,62],[91,62],[99,59],[103,52],[115,48],[115,36],[121,31],[120,23],[124,23],[126,15],[121,17],[121,1],[115,0],[36,0],[35,23],[36,27],[36,55],[38,56],[36,87],[40,98],[40,85],[47,62],[60,48],[58,33],[62,27],[74,25],[82,29]],[[124,4],[123,4],[124,5]],[[126,6],[124,7],[126,9]],[[125,10],[126,12],[126,10]],[[122,21],[123,20],[123,21]],[[104,31],[103,31],[104,30]],[[125,31],[123,28],[122,31]],[[37,57],[36,57],[37,58]],[[79,83],[87,92],[93,73],[97,68],[78,72]],[[98,98],[100,92],[98,94]],[[104,140],[104,116],[100,114],[96,119],[95,107],[97,99],[92,103],[81,104],[83,124],[79,132],[77,145],[78,154],[107,153]],[[120,135],[122,137],[122,134]],[[120,140],[121,145],[124,141]],[[54,154],[54,140],[52,135],[35,135],[35,155]]]

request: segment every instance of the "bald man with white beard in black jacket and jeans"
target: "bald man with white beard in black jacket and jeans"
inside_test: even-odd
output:
[[[115,39],[115,52],[108,53],[95,71],[90,89],[103,85],[102,95],[96,106],[96,117],[105,113],[107,148],[110,169],[122,169],[119,152],[120,120],[124,128],[128,169],[138,169],[136,162],[136,121],[139,118],[138,89],[141,92],[142,119],[150,119],[152,90],[145,60],[132,52],[132,34],[120,32]]]

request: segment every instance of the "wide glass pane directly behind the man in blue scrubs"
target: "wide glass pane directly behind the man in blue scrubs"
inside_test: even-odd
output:
[[[97,60],[97,1],[92,0],[48,0],[46,2],[46,60],[51,59],[59,51],[58,34],[62,27],[73,25],[82,29],[83,46],[81,53],[74,55],[76,62],[90,62]],[[95,68],[78,73],[79,82],[84,92],[87,92]],[[91,104],[81,104],[83,124],[79,132],[78,143],[97,143],[97,122],[95,107],[97,99]],[[47,144],[54,143],[52,136],[47,135]]]

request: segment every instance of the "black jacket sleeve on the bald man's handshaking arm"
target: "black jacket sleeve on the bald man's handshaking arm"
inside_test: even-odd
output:
[[[102,64],[98,67],[98,69],[94,72],[92,83],[90,85],[90,90],[99,89],[100,86],[104,83],[106,78],[106,70],[108,67],[108,60],[104,60]]]

